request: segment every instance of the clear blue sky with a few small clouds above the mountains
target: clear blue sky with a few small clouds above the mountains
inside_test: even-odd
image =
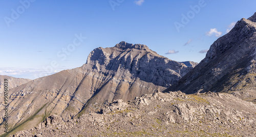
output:
[[[255,0],[0,1],[0,75],[34,79],[80,67],[94,48],[120,41],[145,44],[171,60],[200,62],[235,22],[256,12],[255,5]]]

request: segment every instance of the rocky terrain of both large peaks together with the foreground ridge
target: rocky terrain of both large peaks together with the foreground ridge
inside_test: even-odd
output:
[[[3,136],[255,136],[256,13],[195,65],[141,44],[96,48],[82,67],[11,89]]]

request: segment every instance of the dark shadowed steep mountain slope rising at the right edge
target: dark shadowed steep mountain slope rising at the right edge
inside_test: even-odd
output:
[[[256,103],[256,13],[216,40],[206,57],[166,91],[224,92]]]

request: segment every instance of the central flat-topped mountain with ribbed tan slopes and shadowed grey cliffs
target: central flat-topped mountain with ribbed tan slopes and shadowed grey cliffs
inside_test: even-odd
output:
[[[164,90],[193,67],[159,56],[142,44],[120,42],[111,48],[99,47],[79,68],[10,90],[9,127],[18,127],[11,131],[14,133],[30,129],[53,114],[67,121],[99,111],[104,103],[116,99],[127,101]]]

